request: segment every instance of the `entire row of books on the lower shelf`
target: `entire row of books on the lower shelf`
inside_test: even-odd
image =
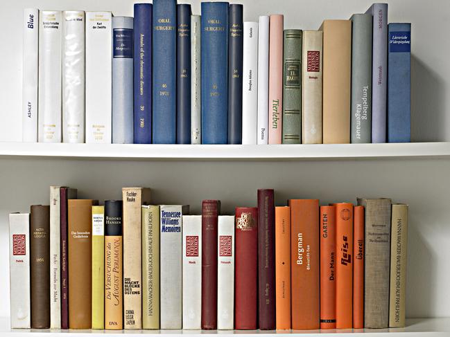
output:
[[[404,327],[408,206],[320,206],[274,190],[220,215],[220,201],[151,206],[51,187],[50,206],[10,214],[12,328]]]

